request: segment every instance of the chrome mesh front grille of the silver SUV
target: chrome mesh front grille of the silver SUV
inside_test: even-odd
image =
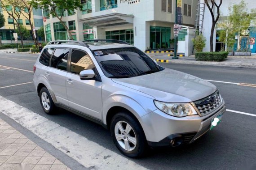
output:
[[[221,106],[221,94],[219,90],[217,90],[210,96],[194,102],[194,104],[201,116],[208,115]]]

